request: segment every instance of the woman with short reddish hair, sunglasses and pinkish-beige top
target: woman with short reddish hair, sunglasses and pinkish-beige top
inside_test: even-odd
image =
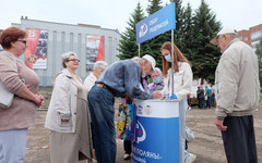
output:
[[[36,108],[44,103],[37,93],[39,78],[19,59],[26,49],[26,32],[9,27],[0,43],[0,82],[14,93],[9,109],[0,108],[0,162],[22,163],[25,159],[27,128],[35,124]]]

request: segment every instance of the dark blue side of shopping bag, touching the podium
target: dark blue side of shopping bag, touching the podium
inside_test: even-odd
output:
[[[134,141],[135,140],[135,115],[136,106],[133,104],[128,104],[127,106],[127,125],[126,125],[126,140]]]

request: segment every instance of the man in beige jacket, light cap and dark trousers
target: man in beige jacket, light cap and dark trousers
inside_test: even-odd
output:
[[[257,163],[253,113],[260,98],[258,58],[233,29],[222,29],[211,43],[223,53],[215,75],[215,124],[222,130],[227,162]]]

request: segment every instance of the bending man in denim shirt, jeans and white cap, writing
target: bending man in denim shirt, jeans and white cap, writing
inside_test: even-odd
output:
[[[118,61],[106,68],[88,93],[96,158],[102,163],[116,162],[115,97],[129,95],[138,99],[160,98],[159,92],[146,93],[140,89],[141,76],[150,75],[155,59],[144,55],[139,62]]]

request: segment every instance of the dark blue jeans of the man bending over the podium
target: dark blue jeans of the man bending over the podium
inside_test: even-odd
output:
[[[98,163],[116,162],[116,131],[115,131],[115,97],[112,93],[94,86],[87,96],[92,127],[93,141]]]

